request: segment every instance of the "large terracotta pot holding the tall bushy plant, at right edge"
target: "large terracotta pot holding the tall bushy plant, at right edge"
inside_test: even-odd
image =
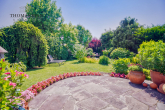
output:
[[[157,84],[158,87],[160,84],[165,83],[165,75],[160,74],[160,72],[150,70],[150,76],[151,76],[152,82]]]

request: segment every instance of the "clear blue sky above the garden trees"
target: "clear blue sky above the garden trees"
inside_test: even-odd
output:
[[[10,14],[23,13],[20,7],[30,2],[0,0],[0,27],[12,25]],[[56,0],[56,5],[61,7],[64,23],[83,25],[97,38],[105,29],[116,29],[128,16],[138,19],[141,25],[165,24],[165,0]]]

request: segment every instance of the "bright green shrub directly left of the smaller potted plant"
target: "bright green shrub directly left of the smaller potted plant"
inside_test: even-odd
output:
[[[113,62],[112,66],[116,73],[128,74],[128,64],[130,64],[130,59],[119,58]]]

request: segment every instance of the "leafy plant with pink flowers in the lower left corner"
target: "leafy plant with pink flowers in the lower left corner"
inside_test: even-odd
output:
[[[14,69],[7,68],[7,62],[4,59],[0,61],[0,109],[17,110],[21,106],[21,91],[24,79],[28,75],[24,72],[18,72]],[[22,107],[21,107],[22,108]]]

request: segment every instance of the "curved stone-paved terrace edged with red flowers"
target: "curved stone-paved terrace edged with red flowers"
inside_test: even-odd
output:
[[[165,110],[165,95],[128,79],[77,76],[47,87],[29,107],[30,110]]]

